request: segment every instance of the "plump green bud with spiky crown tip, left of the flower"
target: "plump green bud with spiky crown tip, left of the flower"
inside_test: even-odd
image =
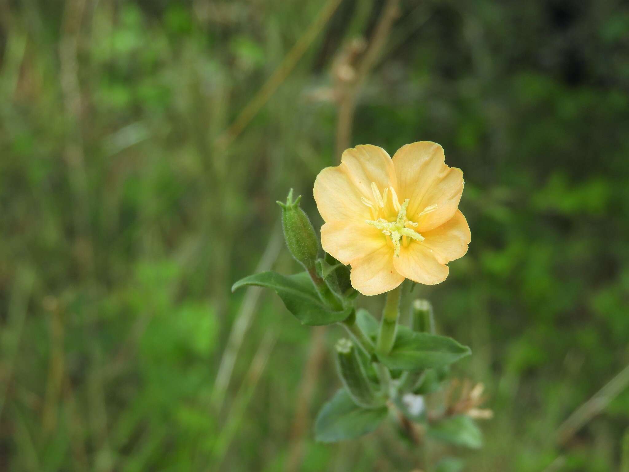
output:
[[[282,228],[288,250],[306,270],[314,273],[319,242],[308,215],[299,207],[299,200],[301,195],[295,201],[292,200],[291,189],[286,203],[278,201],[277,205],[282,207]]]

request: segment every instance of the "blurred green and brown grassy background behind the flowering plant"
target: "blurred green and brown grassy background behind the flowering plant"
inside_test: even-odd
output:
[[[620,468],[629,5],[402,0],[339,130],[385,8],[0,0],[0,471],[418,467],[392,425],[316,444],[341,330],[321,348],[273,293],[230,293],[296,271],[275,201],[295,188],[319,227],[337,133],[432,140],[465,172],[469,252],[415,294],[495,416],[484,449],[431,461]]]

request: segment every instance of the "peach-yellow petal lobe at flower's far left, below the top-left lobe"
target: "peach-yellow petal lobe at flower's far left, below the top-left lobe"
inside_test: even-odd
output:
[[[353,186],[341,166],[326,167],[315,180],[315,201],[326,223],[332,221],[370,220],[369,207],[360,198],[362,195]]]

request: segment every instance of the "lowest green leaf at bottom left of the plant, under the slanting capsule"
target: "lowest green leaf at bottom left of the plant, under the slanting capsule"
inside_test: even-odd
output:
[[[316,440],[337,442],[362,436],[376,429],[387,413],[387,407],[359,407],[345,389],[338,390],[319,412],[315,423]]]

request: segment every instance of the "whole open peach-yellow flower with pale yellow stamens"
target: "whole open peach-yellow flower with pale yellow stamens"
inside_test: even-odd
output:
[[[389,157],[360,145],[315,181],[325,220],[323,249],[352,266],[352,286],[364,295],[396,288],[404,278],[432,285],[464,256],[470,229],[458,210],[463,172],[445,165],[443,148],[421,141]]]

